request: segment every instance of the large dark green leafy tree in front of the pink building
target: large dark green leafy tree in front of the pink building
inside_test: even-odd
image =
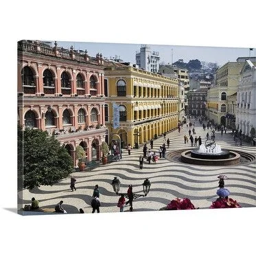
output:
[[[21,137],[23,135],[23,137]],[[33,189],[40,185],[54,185],[73,170],[73,159],[60,142],[46,131],[26,128],[18,131],[18,150],[23,148],[23,187]],[[21,153],[18,157],[21,161]],[[22,165],[22,166],[21,166]],[[18,170],[18,174],[21,170]]]

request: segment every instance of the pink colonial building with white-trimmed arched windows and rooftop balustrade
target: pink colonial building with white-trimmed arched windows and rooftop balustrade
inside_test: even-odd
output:
[[[40,41],[18,42],[18,119],[25,127],[47,130],[67,148],[100,160],[105,141],[104,60],[87,52],[54,47]]]

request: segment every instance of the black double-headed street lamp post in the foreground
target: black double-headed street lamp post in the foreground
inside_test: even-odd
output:
[[[148,178],[146,178],[146,180],[143,182],[142,184],[142,187],[143,187],[143,195],[142,194],[127,194],[127,193],[119,193],[119,190],[120,190],[120,181],[117,177],[114,177],[111,185],[113,186],[113,190],[115,192],[115,194],[117,194],[118,196],[124,196],[125,198],[128,198],[129,199],[129,202],[130,202],[130,211],[133,210],[132,208],[132,201],[137,199],[137,198],[140,198],[141,196],[144,197],[144,196],[147,196],[148,195],[148,192],[150,191],[150,181],[148,180]]]

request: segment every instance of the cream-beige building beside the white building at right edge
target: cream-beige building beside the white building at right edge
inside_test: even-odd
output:
[[[207,116],[216,124],[230,126],[235,122],[235,117],[232,121],[226,119],[227,114],[229,114],[228,106],[233,101],[229,99],[233,99],[233,95],[237,93],[240,71],[246,59],[255,63],[255,57],[240,57],[237,58],[236,62],[227,62],[216,71],[216,81],[207,95]],[[233,102],[233,104],[236,105],[236,102]]]

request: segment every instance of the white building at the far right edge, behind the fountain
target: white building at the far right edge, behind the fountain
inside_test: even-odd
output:
[[[237,130],[247,139],[255,137],[256,128],[256,72],[251,60],[246,60],[240,72],[237,88]]]

